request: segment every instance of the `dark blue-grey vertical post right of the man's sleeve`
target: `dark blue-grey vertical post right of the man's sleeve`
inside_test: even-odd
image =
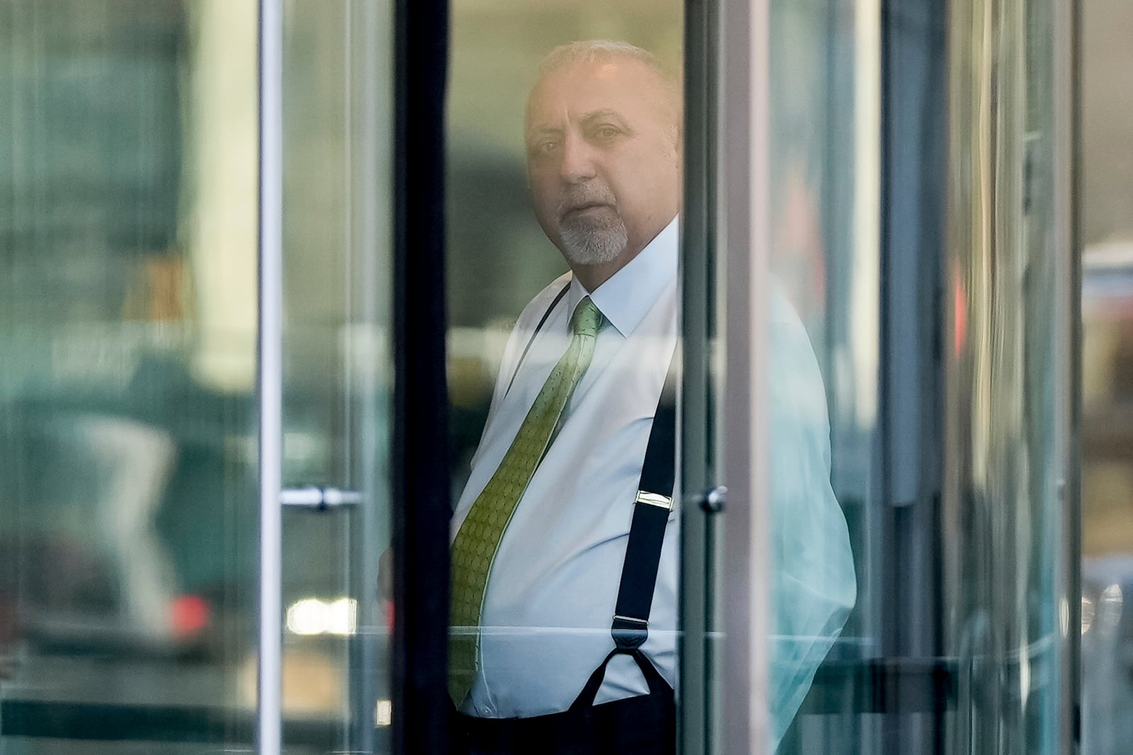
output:
[[[881,330],[879,425],[885,554],[881,650],[943,652],[943,449],[947,3],[881,2]],[[885,753],[939,753],[936,712],[897,713]]]

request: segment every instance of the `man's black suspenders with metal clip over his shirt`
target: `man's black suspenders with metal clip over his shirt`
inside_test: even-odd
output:
[[[511,384],[527,357],[535,337],[543,329],[552,311],[570,288],[568,283],[547,307],[539,324],[531,333],[523,354],[511,375]],[[638,492],[633,501],[633,519],[630,523],[629,543],[625,546],[625,560],[622,562],[622,578],[617,587],[617,601],[610,631],[614,637],[614,650],[606,656],[582,689],[574,705],[593,705],[595,695],[605,677],[606,664],[620,653],[634,658],[641,668],[650,692],[658,692],[665,686],[653,664],[640,652],[641,645],[649,635],[649,612],[653,608],[653,592],[657,586],[657,571],[661,567],[661,549],[665,542],[665,526],[674,506],[673,484],[676,468],[676,356],[673,356],[665,375],[665,384],[654,413],[653,427],[649,430],[649,441],[646,444],[645,461],[641,466],[641,478],[638,481]]]

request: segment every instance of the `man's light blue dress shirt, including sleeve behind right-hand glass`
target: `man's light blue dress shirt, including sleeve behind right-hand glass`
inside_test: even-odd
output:
[[[480,619],[482,665],[461,709],[465,713],[527,718],[564,711],[613,648],[610,623],[633,499],[653,414],[676,346],[679,240],[674,219],[589,292],[608,322],[493,561]],[[565,296],[533,340],[539,320],[564,287]],[[565,350],[570,313],[587,295],[566,274],[520,315],[453,515],[453,537]],[[829,429],[818,365],[782,294],[775,295],[772,306],[777,635],[772,713],[777,741],[853,605],[854,577],[845,519],[829,486]],[[649,637],[642,646],[674,687],[679,526],[674,511],[662,549]],[[632,659],[616,656],[596,702],[647,692]]]

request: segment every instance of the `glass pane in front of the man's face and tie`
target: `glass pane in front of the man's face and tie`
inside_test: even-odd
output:
[[[453,3],[450,694],[462,741],[596,747],[597,709],[641,705],[655,720],[621,713],[622,726],[672,747],[678,521],[634,498],[676,340],[682,12],[671,0]],[[596,334],[586,316],[577,336],[570,324],[583,299]],[[661,458],[671,470],[672,451]],[[583,692],[615,648],[631,520],[647,508],[663,550],[648,557],[656,589],[637,591],[651,596],[645,670],[619,654]],[[582,723],[534,746],[514,719],[540,715]]]

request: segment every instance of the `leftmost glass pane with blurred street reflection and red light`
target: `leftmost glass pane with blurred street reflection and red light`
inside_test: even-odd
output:
[[[0,28],[0,750],[247,748],[255,6]]]

